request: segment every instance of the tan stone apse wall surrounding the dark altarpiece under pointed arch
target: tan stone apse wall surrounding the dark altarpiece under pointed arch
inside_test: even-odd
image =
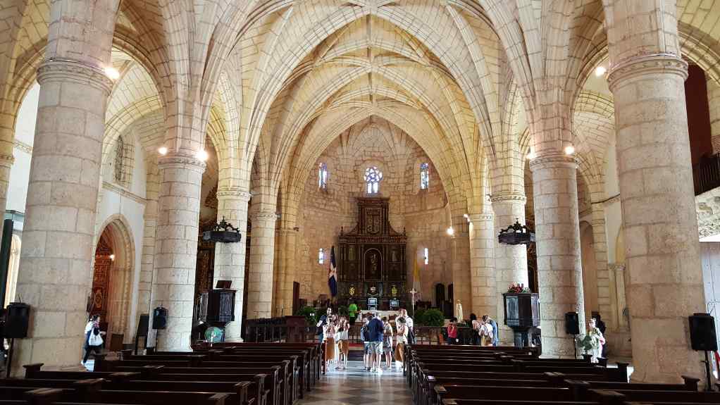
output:
[[[393,143],[394,142],[394,143]],[[328,186],[319,188],[318,166],[328,166]],[[420,189],[420,164],[430,164],[430,187]],[[420,267],[421,299],[434,301],[434,285],[451,283],[450,224],[441,179],[426,153],[405,133],[387,122],[358,124],[338,137],[320,155],[307,178],[298,215],[297,274],[300,295],[312,301],[328,293],[330,247],[341,227],[349,232],[357,221],[355,198],[366,195],[364,171],[382,170],[379,196],[390,197],[390,223],[408,234],[408,286],[412,286],[413,255]],[[428,265],[423,264],[428,247]],[[320,248],[325,263],[318,263]]]

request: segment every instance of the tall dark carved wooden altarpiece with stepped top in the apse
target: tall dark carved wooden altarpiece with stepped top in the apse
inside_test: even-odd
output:
[[[408,237],[390,226],[390,199],[359,198],[358,223],[341,230],[338,260],[338,304],[359,308],[405,308],[408,300],[405,245]]]

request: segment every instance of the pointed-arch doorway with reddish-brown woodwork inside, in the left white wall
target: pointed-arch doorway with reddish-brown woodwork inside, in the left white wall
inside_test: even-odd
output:
[[[90,315],[99,314],[102,326],[112,335],[123,335],[123,342],[132,341],[130,308],[132,275],[135,268],[135,246],[127,220],[120,214],[109,217],[95,244],[92,288],[88,301]]]

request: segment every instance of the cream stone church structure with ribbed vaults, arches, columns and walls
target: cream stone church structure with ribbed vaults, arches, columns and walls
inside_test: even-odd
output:
[[[32,306],[14,368],[76,365],[88,310],[130,343],[162,305],[151,344],[188,350],[217,280],[238,289],[238,340],[239,315],[287,314],[294,283],[328,293],[356,199],[385,197],[423,301],[452,284],[502,319],[511,283],[537,286],[545,355],[573,355],[567,311],[598,311],[634,380],[703,373],[687,316],[720,293],[720,188],[693,190],[693,167],[720,152],[720,1],[0,8],[6,301]],[[199,244],[222,217],[249,245]],[[497,242],[516,219],[529,255]]]

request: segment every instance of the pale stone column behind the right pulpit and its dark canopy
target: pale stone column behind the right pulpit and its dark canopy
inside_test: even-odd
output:
[[[498,316],[495,320],[500,328],[500,342],[503,345],[513,345],[513,329],[505,326],[505,303],[503,293],[508,292],[512,283],[529,286],[528,283],[528,248],[526,245],[502,245],[498,243],[500,229],[505,229],[519,221],[525,224],[526,197],[520,193],[493,194],[492,211],[495,211],[495,282],[498,300]],[[537,291],[534,291],[537,292]]]

